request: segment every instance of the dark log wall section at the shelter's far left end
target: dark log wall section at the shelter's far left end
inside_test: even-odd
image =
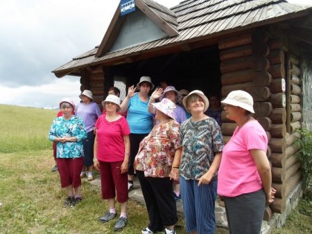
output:
[[[89,89],[93,93],[94,102],[98,103],[102,109],[101,102],[104,96],[104,73],[101,66],[96,69],[88,69],[82,72],[80,78],[80,91]]]

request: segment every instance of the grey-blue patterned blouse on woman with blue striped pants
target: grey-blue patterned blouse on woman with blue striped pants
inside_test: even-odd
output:
[[[214,118],[193,122],[187,119],[180,126],[184,152],[180,163],[180,176],[200,179],[214,161],[214,154],[224,146],[220,126]]]

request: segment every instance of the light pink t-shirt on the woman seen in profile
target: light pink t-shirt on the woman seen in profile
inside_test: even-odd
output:
[[[245,123],[223,147],[218,171],[218,195],[236,197],[262,188],[256,163],[249,150],[266,152],[268,137],[257,120]]]

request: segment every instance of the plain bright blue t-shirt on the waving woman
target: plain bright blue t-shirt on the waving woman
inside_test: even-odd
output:
[[[148,134],[153,128],[153,117],[148,112],[148,102],[142,102],[139,93],[129,100],[127,121],[131,133],[134,134]]]

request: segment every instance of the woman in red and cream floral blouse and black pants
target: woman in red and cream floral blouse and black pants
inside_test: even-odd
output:
[[[142,233],[175,233],[177,208],[173,181],[169,178],[175,154],[180,154],[180,125],[175,121],[175,104],[167,98],[153,103],[158,125],[139,145],[135,169],[144,195],[150,224]]]

